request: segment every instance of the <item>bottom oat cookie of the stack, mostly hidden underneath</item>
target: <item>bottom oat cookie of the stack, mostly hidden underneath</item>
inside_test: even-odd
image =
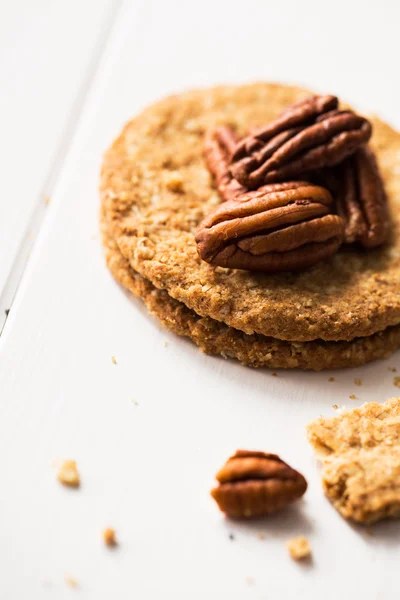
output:
[[[101,224],[107,266],[115,279],[141,298],[163,325],[190,338],[207,354],[235,358],[250,367],[321,371],[357,367],[386,358],[400,347],[400,325],[349,342],[288,342],[260,334],[247,335],[211,317],[201,317],[132,269],[104,214]]]

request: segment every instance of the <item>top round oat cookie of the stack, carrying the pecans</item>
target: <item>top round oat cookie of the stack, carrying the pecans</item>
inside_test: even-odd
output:
[[[263,275],[212,267],[193,233],[220,202],[202,155],[204,131],[231,124],[243,134],[310,92],[254,84],[166,98],[128,123],[107,152],[104,211],[130,266],[193,309],[246,332],[288,341],[352,340],[400,323],[400,134],[372,119],[394,220],[380,250],[340,250],[303,273]]]

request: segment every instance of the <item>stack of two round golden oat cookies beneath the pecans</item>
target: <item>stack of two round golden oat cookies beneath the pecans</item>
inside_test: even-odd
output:
[[[388,244],[343,246],[302,272],[277,274],[199,257],[194,233],[221,202],[205,132],[229,125],[244,135],[309,94],[254,84],[173,96],[129,122],[104,158],[101,222],[115,278],[178,335],[253,367],[350,367],[400,347],[400,134],[378,118],[370,146],[389,200]]]

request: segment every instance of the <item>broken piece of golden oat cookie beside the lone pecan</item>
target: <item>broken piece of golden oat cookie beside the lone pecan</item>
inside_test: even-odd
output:
[[[323,461],[325,493],[345,518],[400,516],[400,398],[317,419],[308,436]]]

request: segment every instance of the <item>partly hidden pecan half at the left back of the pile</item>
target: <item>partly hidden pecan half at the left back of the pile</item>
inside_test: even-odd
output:
[[[236,148],[238,137],[231,127],[216,127],[206,133],[204,157],[207,167],[215,179],[215,185],[223,200],[232,200],[246,191],[229,170],[232,152]]]

